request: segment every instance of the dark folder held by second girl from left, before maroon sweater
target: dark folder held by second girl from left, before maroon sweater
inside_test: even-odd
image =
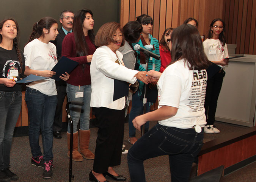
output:
[[[60,61],[58,61],[58,63],[52,68],[52,71],[56,72],[56,75],[51,78],[55,79],[56,81],[60,81],[60,76],[62,76],[62,74],[65,74],[65,72],[70,73],[78,64],[78,62],[63,56]]]

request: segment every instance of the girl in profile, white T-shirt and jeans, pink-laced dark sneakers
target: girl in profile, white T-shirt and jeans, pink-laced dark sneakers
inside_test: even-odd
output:
[[[49,42],[58,35],[58,24],[51,17],[42,18],[33,26],[30,40],[24,48],[25,75],[52,77],[55,72],[50,71],[57,64],[56,47]],[[62,74],[61,79],[66,81],[68,73]],[[57,91],[55,80],[48,78],[31,82],[27,85],[25,101],[29,116],[29,141],[31,147],[31,165],[43,167],[42,177],[52,177],[52,124],[57,106]],[[42,132],[42,155],[39,146],[40,129]]]

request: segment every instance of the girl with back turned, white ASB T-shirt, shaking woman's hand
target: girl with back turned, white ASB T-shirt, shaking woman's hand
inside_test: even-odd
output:
[[[145,182],[143,161],[162,155],[169,155],[171,181],[188,182],[194,157],[203,146],[205,69],[210,62],[203,52],[200,34],[192,25],[174,29],[169,48],[172,63],[162,76],[160,72],[148,73],[159,78],[159,108],[132,121],[139,130],[147,121],[159,121],[128,152],[132,182]]]

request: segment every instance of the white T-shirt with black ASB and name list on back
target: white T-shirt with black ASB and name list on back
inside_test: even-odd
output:
[[[158,107],[172,106],[178,110],[176,115],[159,121],[159,124],[184,129],[194,125],[204,127],[206,83],[206,70],[189,70],[184,59],[168,66],[157,82]]]

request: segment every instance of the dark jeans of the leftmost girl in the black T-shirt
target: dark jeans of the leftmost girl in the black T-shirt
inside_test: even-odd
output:
[[[13,131],[20,115],[22,93],[0,91],[0,170],[10,163]]]

